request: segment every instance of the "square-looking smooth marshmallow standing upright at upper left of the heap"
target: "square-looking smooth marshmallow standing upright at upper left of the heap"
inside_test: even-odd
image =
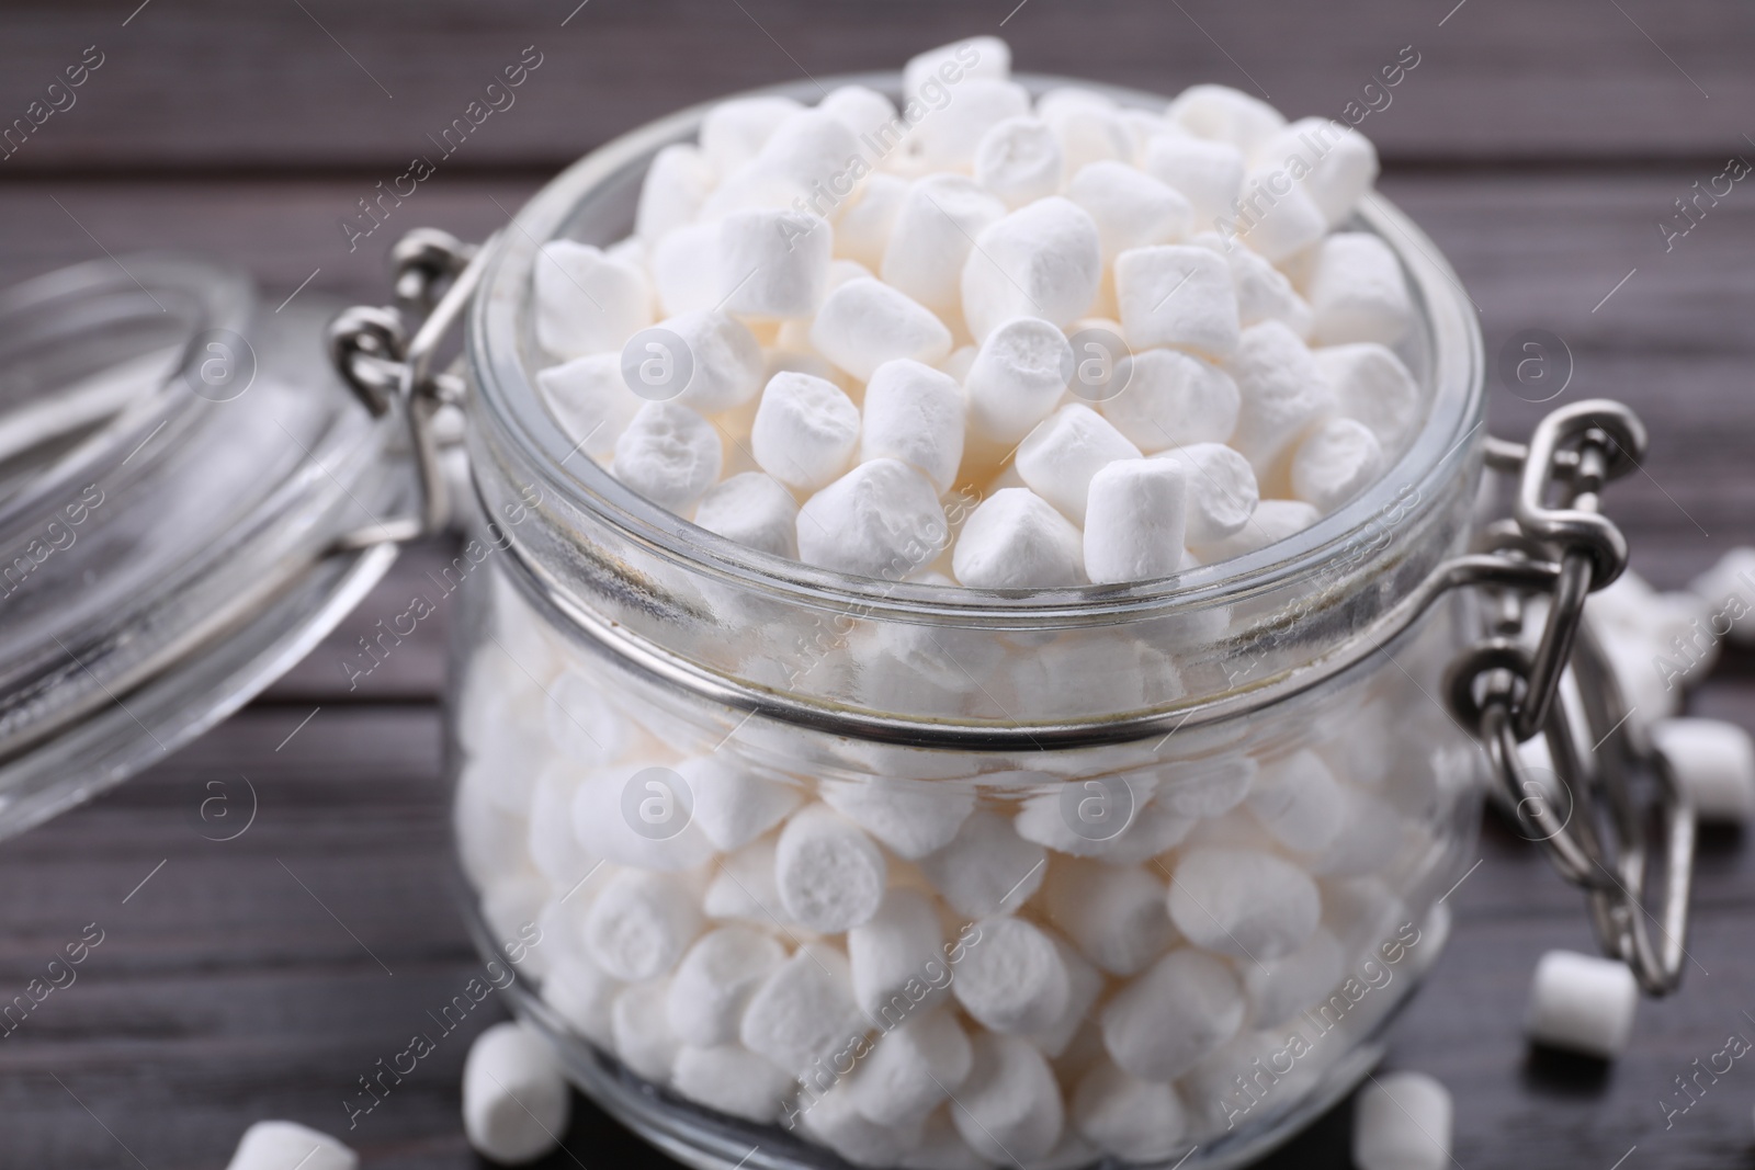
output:
[[[749,317],[811,316],[828,293],[834,246],[830,226],[813,214],[728,214],[720,221],[721,305]]]

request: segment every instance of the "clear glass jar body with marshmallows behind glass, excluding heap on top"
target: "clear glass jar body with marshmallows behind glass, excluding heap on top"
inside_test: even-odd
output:
[[[844,577],[634,495],[534,386],[537,247],[625,237],[704,109],[553,181],[470,303],[448,728],[483,951],[695,1166],[1260,1156],[1381,1056],[1476,833],[1471,630],[1432,589],[1485,444],[1455,275],[1365,202],[1430,407],[1307,531],[1130,586]]]

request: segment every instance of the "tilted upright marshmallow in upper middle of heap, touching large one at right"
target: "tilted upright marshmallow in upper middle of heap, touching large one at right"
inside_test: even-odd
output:
[[[969,253],[1006,203],[963,175],[928,175],[907,189],[890,225],[879,275],[937,312],[962,305]]]

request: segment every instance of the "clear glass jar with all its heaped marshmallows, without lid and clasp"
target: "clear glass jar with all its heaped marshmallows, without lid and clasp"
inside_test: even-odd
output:
[[[1411,602],[1483,412],[1374,174],[978,37],[519,212],[449,758],[579,1088],[704,1166],[1193,1168],[1362,1077],[1476,831]]]

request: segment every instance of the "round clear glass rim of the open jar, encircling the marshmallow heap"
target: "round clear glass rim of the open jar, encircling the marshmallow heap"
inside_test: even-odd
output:
[[[1046,74],[1014,74],[1013,79],[1034,95],[1057,86],[1079,86],[1135,109],[1162,109],[1169,102],[1162,95],[1085,79]],[[900,93],[900,74],[846,74],[728,96],[814,100],[841,84],[865,84],[895,96]],[[728,98],[646,123],[551,179],[491,242],[493,254],[465,330],[477,391],[474,398],[528,458],[525,470],[623,537],[679,565],[734,579],[739,588],[774,598],[856,607],[874,616],[907,616],[928,623],[1002,621],[1009,626],[1021,623],[1057,628],[1204,609],[1322,574],[1325,567],[1355,556],[1360,542],[1378,535],[1374,528],[1385,514],[1408,519],[1423,510],[1425,502],[1443,495],[1436,486],[1472,463],[1485,442],[1485,353],[1479,323],[1469,312],[1472,302],[1437,246],[1393,203],[1372,191],[1362,200],[1358,219],[1383,239],[1408,277],[1418,323],[1425,330],[1427,368],[1416,375],[1429,389],[1429,410],[1395,465],[1357,498],[1309,528],[1253,553],[1185,568],[1169,577],[1049,589],[974,589],[858,577],[762,553],[711,533],[623,486],[597,461],[574,458],[577,444],[542,405],[534,367],[526,360],[534,353],[534,340],[525,319],[525,293],[541,244],[565,239],[576,210],[593,191],[612,182],[637,182],[658,149],[693,140],[707,111],[723,100]]]

